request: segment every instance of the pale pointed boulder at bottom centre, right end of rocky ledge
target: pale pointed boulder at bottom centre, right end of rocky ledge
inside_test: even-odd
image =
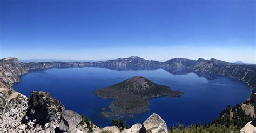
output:
[[[143,127],[147,132],[168,132],[165,121],[155,113],[143,122]]]

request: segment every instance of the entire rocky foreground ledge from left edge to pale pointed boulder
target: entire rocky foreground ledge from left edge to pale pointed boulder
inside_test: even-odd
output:
[[[42,91],[31,92],[29,98],[18,94],[0,114],[2,132],[121,132],[115,126],[99,128],[91,121],[87,123],[81,115],[65,110],[57,99]],[[167,126],[159,115],[152,114],[143,124],[134,124],[122,132],[167,132]]]

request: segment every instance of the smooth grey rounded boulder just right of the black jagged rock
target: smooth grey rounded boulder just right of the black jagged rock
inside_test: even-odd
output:
[[[70,131],[76,129],[82,121],[82,117],[72,110],[65,110],[60,117],[59,128],[62,131]]]

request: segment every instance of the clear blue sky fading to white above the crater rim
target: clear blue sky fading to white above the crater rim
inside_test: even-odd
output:
[[[256,63],[254,0],[0,1],[1,58]]]

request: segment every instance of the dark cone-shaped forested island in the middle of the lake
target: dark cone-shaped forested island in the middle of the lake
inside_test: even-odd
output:
[[[141,76],[134,76],[107,88],[98,89],[95,94],[102,98],[114,99],[109,108],[111,112],[102,112],[105,117],[124,113],[142,113],[149,108],[150,98],[178,97],[183,92],[173,91],[169,86],[158,85]]]

